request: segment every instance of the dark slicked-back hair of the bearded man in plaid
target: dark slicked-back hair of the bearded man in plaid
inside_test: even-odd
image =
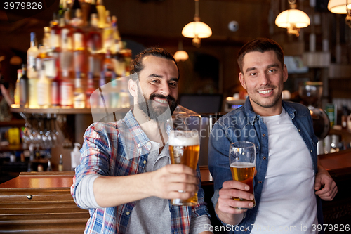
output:
[[[174,63],[176,63],[176,66],[178,69],[178,79],[179,79],[179,67],[176,60],[174,59],[171,53],[166,51],[164,48],[158,48],[158,47],[147,48],[144,51],[141,51],[140,53],[138,53],[138,55],[135,56],[135,59],[131,63],[131,74],[139,73],[144,69],[143,58],[146,56],[156,56],[159,58],[166,58],[169,60],[173,60]],[[131,77],[133,80],[137,78],[137,76],[131,76]]]

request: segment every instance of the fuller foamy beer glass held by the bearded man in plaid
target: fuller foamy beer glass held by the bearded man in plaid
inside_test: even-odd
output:
[[[168,144],[171,164],[184,164],[194,170],[197,169],[197,160],[199,160],[200,152],[199,133],[197,130],[172,130],[168,136]],[[185,193],[185,191],[178,192]],[[187,200],[172,199],[171,204],[178,206],[194,206],[198,204],[197,193]]]

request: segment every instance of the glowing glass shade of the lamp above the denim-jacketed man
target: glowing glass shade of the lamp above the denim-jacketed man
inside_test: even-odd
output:
[[[289,9],[280,13],[275,19],[275,24],[278,27],[307,27],[310,25],[310,18],[308,15],[298,9]]]

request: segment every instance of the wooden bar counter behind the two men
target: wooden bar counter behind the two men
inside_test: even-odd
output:
[[[332,202],[323,202],[324,223],[350,224],[351,150],[319,155],[319,160],[339,191]],[[213,178],[208,167],[200,171],[211,222],[221,225],[211,204]],[[22,172],[0,184],[0,233],[83,233],[89,214],[70,194],[73,176],[73,171]]]

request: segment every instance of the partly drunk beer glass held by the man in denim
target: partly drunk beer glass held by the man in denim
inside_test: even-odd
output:
[[[256,167],[255,144],[249,141],[239,141],[230,144],[229,164],[233,180],[246,183],[250,187],[248,192],[253,194],[253,176],[255,175]],[[233,197],[233,199],[237,201],[247,201],[239,197]],[[253,202],[253,207],[255,207],[255,198],[253,198],[251,202]],[[237,209],[251,208],[237,207]]]

